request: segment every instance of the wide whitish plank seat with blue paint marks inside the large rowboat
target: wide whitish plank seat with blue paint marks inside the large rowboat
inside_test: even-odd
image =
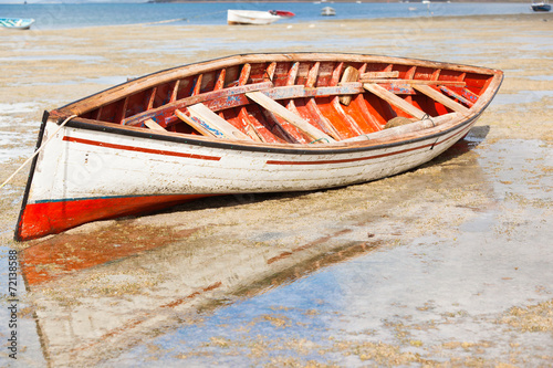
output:
[[[248,135],[237,129],[232,124],[225,120],[201,103],[188,106],[188,112],[190,116],[176,109],[175,115],[205,136],[251,140]]]

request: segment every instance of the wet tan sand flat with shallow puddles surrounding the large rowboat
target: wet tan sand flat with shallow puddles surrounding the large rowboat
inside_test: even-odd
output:
[[[552,31],[552,14],[531,14],[0,33],[2,179],[31,155],[43,109],[179,64],[336,51],[505,72],[466,140],[365,185],[211,198],[14,243],[20,174],[0,199],[0,283],[10,248],[27,281],[18,362],[547,366]]]

